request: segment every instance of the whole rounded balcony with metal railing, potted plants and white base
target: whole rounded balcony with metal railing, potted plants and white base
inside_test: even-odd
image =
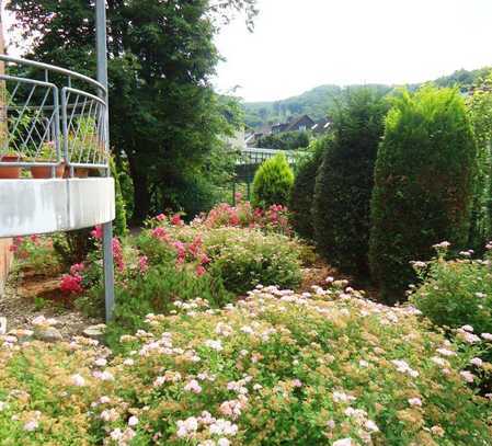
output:
[[[105,88],[55,66],[0,61],[0,238],[112,221]]]

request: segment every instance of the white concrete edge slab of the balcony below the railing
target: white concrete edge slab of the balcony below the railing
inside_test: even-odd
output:
[[[0,180],[0,238],[90,228],[114,218],[111,178]]]

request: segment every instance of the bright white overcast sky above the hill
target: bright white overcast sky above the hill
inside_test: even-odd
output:
[[[408,83],[492,65],[492,0],[258,0],[217,44],[216,85],[248,101],[324,83]]]

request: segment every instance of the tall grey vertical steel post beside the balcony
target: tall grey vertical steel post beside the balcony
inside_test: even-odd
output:
[[[96,0],[95,2],[95,28],[98,46],[98,81],[104,85],[106,93],[101,92],[106,103],[106,147],[110,145],[108,127],[108,94],[107,94],[107,43],[106,43],[106,1]],[[110,168],[106,170],[107,176],[111,175]],[[106,322],[113,318],[114,310],[114,261],[113,261],[113,222],[103,225],[103,250],[104,250],[104,297],[106,309]]]

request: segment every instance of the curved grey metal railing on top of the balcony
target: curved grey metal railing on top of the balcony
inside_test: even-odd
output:
[[[107,91],[53,65],[0,55],[0,161],[108,172]],[[41,78],[41,79],[39,79]],[[4,164],[5,165],[5,164]]]

